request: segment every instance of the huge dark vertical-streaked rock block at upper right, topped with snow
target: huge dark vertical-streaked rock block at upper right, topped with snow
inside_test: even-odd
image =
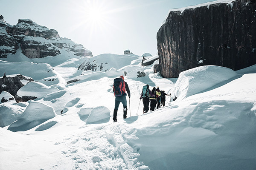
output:
[[[201,65],[239,70],[256,64],[256,2],[236,0],[171,11],[157,33],[165,78]]]

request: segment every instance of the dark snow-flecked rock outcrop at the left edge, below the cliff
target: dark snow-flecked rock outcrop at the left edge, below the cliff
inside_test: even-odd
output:
[[[21,80],[25,82],[34,81],[33,79],[28,79],[23,75],[0,78],[0,93],[2,93],[2,91],[7,91],[12,94],[12,96],[15,96],[17,94],[17,91],[24,86]]]

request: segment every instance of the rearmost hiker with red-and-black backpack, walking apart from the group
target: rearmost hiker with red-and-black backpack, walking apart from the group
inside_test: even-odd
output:
[[[120,76],[119,78],[114,79],[113,92],[114,92],[114,96],[116,96],[115,109],[114,109],[114,115],[113,115],[114,122],[117,121],[116,116],[117,116],[117,110],[120,102],[122,102],[124,107],[123,118],[126,119],[127,117],[126,116],[127,115],[127,101],[126,101],[127,94],[125,93],[125,90],[127,91],[129,98],[131,97],[131,94],[130,94],[128,84],[124,80],[125,78],[123,76]]]

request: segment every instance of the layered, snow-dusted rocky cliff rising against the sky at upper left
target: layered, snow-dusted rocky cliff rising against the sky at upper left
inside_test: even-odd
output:
[[[16,54],[19,46],[22,54],[28,58],[56,56],[61,53],[93,56],[83,45],[61,38],[54,29],[40,26],[29,19],[18,20],[17,25],[11,26],[0,15],[0,58]]]

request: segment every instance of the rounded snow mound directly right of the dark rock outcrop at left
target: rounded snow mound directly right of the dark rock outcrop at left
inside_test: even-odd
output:
[[[29,82],[17,91],[18,96],[35,96],[37,98],[42,98],[47,94],[59,91],[58,88],[48,87],[40,82]]]

